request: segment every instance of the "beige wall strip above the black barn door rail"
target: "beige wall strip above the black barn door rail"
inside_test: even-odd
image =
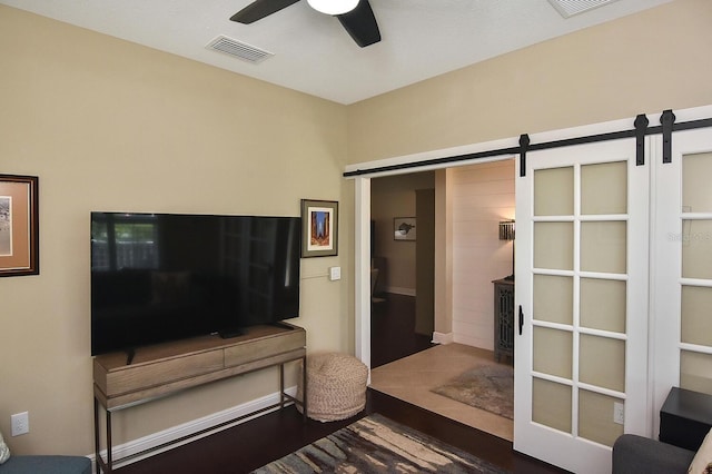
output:
[[[711,22],[678,0],[355,103],[349,164],[710,105]]]

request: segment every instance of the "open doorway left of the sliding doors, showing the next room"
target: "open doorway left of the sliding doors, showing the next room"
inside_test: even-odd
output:
[[[436,181],[438,172],[447,174],[447,179]],[[497,365],[493,338],[493,282],[512,274],[513,243],[500,239],[500,221],[514,218],[514,159],[510,158],[456,169],[373,178],[369,194],[370,261],[372,269],[377,270],[377,278],[372,282],[369,319],[370,366],[374,369],[372,387],[402,399],[407,398],[426,409],[439,409],[444,416],[507,440],[512,440],[512,419],[471,409],[433,389],[473,366]],[[435,327],[437,309],[433,296],[433,326],[425,334],[418,334],[415,330],[415,307],[422,289],[416,288],[415,260],[424,257],[416,257],[414,244],[421,241],[421,216],[416,220],[418,234],[415,243],[395,240],[394,218],[415,213],[408,210],[407,206],[409,204],[413,206],[409,209],[415,208],[416,192],[426,188],[424,181],[433,184],[434,200],[442,199],[443,195],[452,200],[452,214],[447,216],[449,223],[446,223],[452,228],[452,235],[444,238],[444,230],[439,227],[443,220],[435,228],[437,219],[434,217],[434,245],[429,250],[429,258],[434,261],[435,246],[444,240],[448,243],[446,247],[453,264],[447,290],[452,302],[448,329]],[[438,195],[435,188],[443,186],[443,182],[447,189]],[[399,210],[398,206],[405,210]],[[408,255],[411,260],[404,260],[403,255]],[[443,279],[436,271],[433,265],[429,269],[433,295],[437,292],[435,279]],[[443,340],[443,335],[446,340]],[[433,340],[447,344],[434,347]],[[503,357],[501,362],[510,366],[513,363],[511,357]],[[434,371],[435,366],[439,368]],[[429,382],[437,384],[425,386]],[[397,386],[398,383],[400,386]]]

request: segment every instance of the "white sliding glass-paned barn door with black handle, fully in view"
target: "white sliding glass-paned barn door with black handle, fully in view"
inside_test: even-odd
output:
[[[650,166],[635,149],[528,152],[516,178],[514,448],[572,472],[610,473],[615,438],[649,431]]]

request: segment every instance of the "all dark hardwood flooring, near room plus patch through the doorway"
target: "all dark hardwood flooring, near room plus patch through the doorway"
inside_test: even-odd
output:
[[[413,332],[414,298],[388,295],[374,305],[372,365],[383,365],[431,346]],[[389,315],[399,315],[398,317]],[[116,470],[118,474],[248,473],[315,442],[369,413],[379,413],[439,438],[507,472],[546,474],[562,471],[518,454],[512,443],[389,395],[368,389],[366,409],[340,422],[304,419],[294,406],[259,416],[210,436]]]

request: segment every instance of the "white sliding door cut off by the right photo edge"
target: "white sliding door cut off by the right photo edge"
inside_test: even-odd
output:
[[[669,159],[653,159],[657,411],[672,386],[712,394],[712,130],[674,132]]]

